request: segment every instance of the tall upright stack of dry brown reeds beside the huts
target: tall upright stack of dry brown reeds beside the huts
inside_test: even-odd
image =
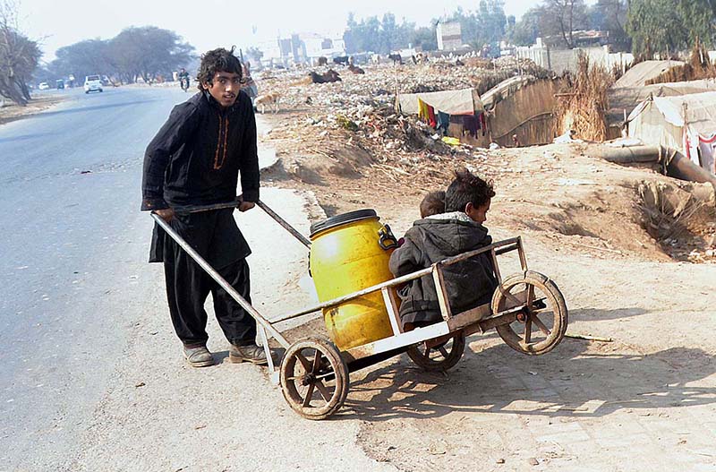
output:
[[[601,65],[592,65],[584,54],[578,58],[577,72],[566,77],[566,87],[557,103],[558,129],[573,131],[585,141],[602,142],[607,139],[609,109],[607,90],[614,79]]]

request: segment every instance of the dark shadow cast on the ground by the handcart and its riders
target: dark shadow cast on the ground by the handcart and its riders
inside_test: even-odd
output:
[[[453,412],[599,417],[622,408],[716,403],[713,386],[688,385],[715,368],[713,356],[698,348],[641,355],[624,345],[567,339],[533,357],[501,344],[467,350],[446,374],[422,372],[402,356],[352,382],[345,405],[351,416],[371,421]]]

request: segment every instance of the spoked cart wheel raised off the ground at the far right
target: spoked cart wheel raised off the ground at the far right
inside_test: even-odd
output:
[[[507,346],[532,356],[550,352],[565,337],[567,304],[557,285],[539,272],[527,270],[504,279],[492,296],[492,313],[523,306],[517,320],[498,326]]]

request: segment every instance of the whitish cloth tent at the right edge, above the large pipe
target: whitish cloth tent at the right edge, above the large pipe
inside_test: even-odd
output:
[[[716,91],[650,97],[627,121],[630,137],[680,150],[696,166],[716,173]]]

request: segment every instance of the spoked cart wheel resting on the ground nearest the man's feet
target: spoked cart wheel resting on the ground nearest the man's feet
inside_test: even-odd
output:
[[[291,345],[279,377],[288,404],[308,419],[333,415],[348,395],[348,367],[336,346],[320,336]]]

